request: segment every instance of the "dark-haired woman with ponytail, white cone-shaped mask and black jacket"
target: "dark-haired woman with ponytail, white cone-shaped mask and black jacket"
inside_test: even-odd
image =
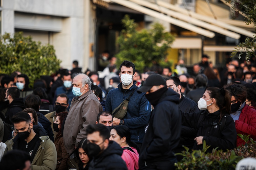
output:
[[[224,88],[208,87],[198,101],[197,113],[182,113],[182,125],[195,128],[197,134],[193,149],[203,149],[203,142],[226,151],[236,147],[237,133],[230,116],[230,93]]]

